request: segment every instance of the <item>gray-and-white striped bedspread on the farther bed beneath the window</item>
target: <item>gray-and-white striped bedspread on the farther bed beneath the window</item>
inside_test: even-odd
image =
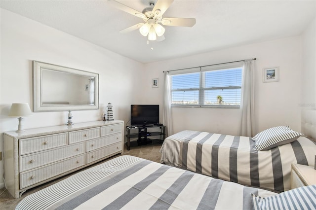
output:
[[[254,151],[249,137],[182,131],[166,138],[161,163],[244,185],[285,191],[291,163],[314,166],[316,142],[299,137],[267,151]]]

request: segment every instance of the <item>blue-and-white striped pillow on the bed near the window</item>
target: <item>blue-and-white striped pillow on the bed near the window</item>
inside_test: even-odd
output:
[[[255,143],[253,150],[269,150],[290,143],[299,138],[301,133],[293,131],[288,126],[277,126],[258,133],[252,138]]]

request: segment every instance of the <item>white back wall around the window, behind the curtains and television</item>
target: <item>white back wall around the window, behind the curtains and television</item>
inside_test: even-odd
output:
[[[179,59],[146,64],[147,103],[162,106],[165,70],[198,67],[230,61],[257,58],[255,72],[255,133],[289,125],[300,131],[300,87],[302,71],[301,36],[218,50]],[[279,82],[263,83],[263,68],[279,67]],[[160,79],[159,88],[151,88],[152,78]],[[172,108],[174,133],[199,130],[239,135],[239,109]]]

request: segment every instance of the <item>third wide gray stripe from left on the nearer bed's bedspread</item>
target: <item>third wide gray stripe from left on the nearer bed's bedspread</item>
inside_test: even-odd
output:
[[[150,208],[151,210],[168,209],[176,200],[180,192],[185,188],[189,181],[194,176],[194,173],[185,171],[177,180],[160,196],[156,203]]]

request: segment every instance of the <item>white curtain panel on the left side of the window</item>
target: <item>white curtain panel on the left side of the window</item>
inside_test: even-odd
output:
[[[172,111],[171,111],[171,81],[169,72],[164,72],[163,89],[163,125],[166,126],[166,137],[173,134]]]

